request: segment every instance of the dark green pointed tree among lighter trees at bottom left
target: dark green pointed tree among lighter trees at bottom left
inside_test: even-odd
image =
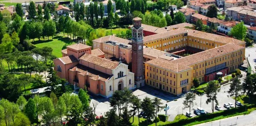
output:
[[[30,98],[26,104],[24,113],[29,118],[31,124],[37,122],[36,104],[32,98]]]

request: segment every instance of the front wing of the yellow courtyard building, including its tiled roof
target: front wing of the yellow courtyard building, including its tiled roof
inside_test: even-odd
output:
[[[176,60],[158,57],[145,62],[146,84],[179,95],[191,90],[193,78],[214,80],[217,72],[225,74],[238,68],[244,56],[245,47],[231,43]]]

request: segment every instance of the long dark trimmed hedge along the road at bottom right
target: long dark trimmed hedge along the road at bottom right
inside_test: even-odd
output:
[[[194,118],[187,118],[187,119],[181,119],[181,120],[177,120],[177,121],[172,121],[169,124],[165,124],[163,126],[183,126],[183,125],[187,125],[189,123],[193,123],[195,121],[204,121],[204,120],[209,120],[215,117],[219,117],[219,116],[228,116],[228,115],[234,115],[237,113],[241,113],[241,112],[245,112],[245,114],[249,114],[248,108],[250,107],[255,107],[256,105],[248,105],[248,106],[241,106],[241,107],[237,107],[237,108],[231,108],[231,109],[227,109],[225,111],[217,111],[214,113],[208,113],[205,115],[200,115],[200,116],[196,116]],[[248,112],[248,113],[246,113]]]

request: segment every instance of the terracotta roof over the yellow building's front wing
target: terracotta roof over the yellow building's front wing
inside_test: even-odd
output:
[[[174,72],[180,72],[180,71],[190,69],[189,65],[199,63],[199,62],[202,62],[220,55],[224,55],[233,51],[241,50],[243,48],[245,47],[235,45],[235,44],[226,44],[226,45],[212,48],[210,50],[206,50],[200,53],[182,57],[180,59],[173,60],[173,61],[164,60],[162,58],[156,58],[156,59],[147,61],[146,63],[159,66],[161,68],[168,69]]]

